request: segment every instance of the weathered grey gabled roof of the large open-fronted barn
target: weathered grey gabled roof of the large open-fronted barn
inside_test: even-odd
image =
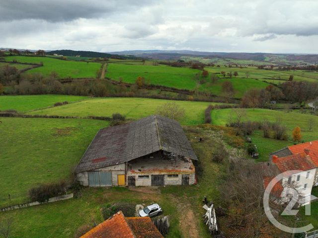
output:
[[[99,130],[76,168],[94,170],[166,151],[197,160],[180,124],[159,115]]]

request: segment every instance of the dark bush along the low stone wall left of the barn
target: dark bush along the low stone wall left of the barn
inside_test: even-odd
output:
[[[38,187],[29,190],[31,202],[46,202],[51,197],[60,196],[66,193],[67,183],[61,181],[59,183],[41,184]]]

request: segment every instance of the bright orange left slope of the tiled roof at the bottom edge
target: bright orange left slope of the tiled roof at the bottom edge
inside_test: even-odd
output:
[[[123,213],[119,211],[80,238],[136,238]]]

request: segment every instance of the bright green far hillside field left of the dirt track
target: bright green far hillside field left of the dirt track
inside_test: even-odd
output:
[[[60,78],[95,78],[96,72],[100,69],[99,63],[86,63],[76,61],[58,60],[51,57],[27,57],[27,56],[8,56],[4,58],[5,61],[16,60],[22,63],[36,63],[43,62],[43,67],[32,69],[25,74],[40,73],[42,75],[49,75],[55,71]]]

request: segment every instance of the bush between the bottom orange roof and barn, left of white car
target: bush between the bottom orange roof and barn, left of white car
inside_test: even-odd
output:
[[[119,202],[106,204],[106,206],[101,209],[104,220],[107,220],[109,217],[119,211],[122,211],[125,217],[135,217],[136,205],[132,203]]]

